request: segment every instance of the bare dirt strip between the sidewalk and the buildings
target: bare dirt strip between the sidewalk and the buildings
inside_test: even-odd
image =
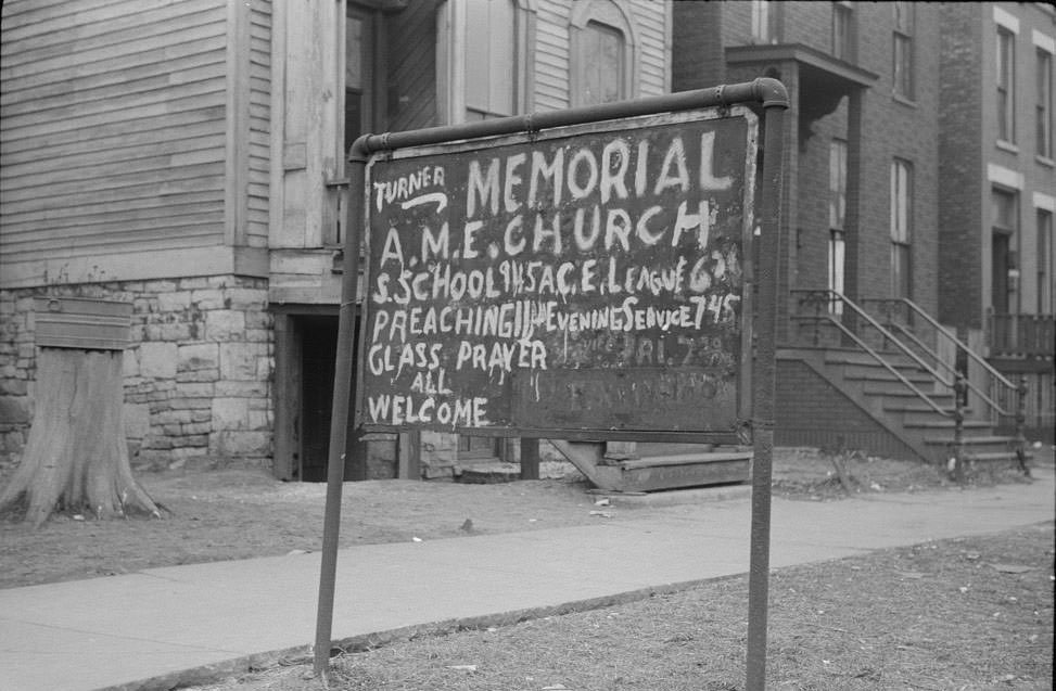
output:
[[[815,450],[776,449],[774,492],[825,501],[848,491],[956,486],[932,466],[854,458],[847,461],[844,488],[834,469]],[[547,463],[544,471],[549,479],[507,484],[345,483],[341,546],[574,526],[656,510],[627,504],[601,517],[594,503],[597,496],[571,465]],[[0,516],[0,588],[321,549],[325,484],[282,483],[247,470],[166,470],[139,473],[138,478],[165,507],[163,519],[94,521],[56,514],[33,529],[16,514]],[[1002,469],[977,473],[974,482],[1023,481],[1013,469]]]

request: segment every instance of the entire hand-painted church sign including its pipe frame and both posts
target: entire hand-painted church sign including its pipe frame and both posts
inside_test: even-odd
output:
[[[758,179],[752,105],[769,154]],[[787,107],[760,78],[356,140],[316,673],[349,427],[437,430],[751,442],[747,674],[763,688]]]

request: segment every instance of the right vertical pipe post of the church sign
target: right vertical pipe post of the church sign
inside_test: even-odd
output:
[[[754,379],[751,564],[748,580],[748,691],[766,686],[766,611],[769,598],[771,478],[776,393],[777,273],[780,260],[785,171],[785,108],[788,100],[764,101],[763,181],[759,252],[759,347]]]

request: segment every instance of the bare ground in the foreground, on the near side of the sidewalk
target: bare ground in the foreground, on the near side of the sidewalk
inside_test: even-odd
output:
[[[1052,689],[1053,524],[774,572],[767,688]],[[748,583],[736,577],[514,626],[298,661],[209,691],[736,691]],[[204,690],[203,690],[204,691]]]

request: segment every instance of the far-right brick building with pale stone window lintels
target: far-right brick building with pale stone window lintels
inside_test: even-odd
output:
[[[1051,443],[1056,11],[945,3],[941,17],[939,316],[1027,378],[1028,426]]]

